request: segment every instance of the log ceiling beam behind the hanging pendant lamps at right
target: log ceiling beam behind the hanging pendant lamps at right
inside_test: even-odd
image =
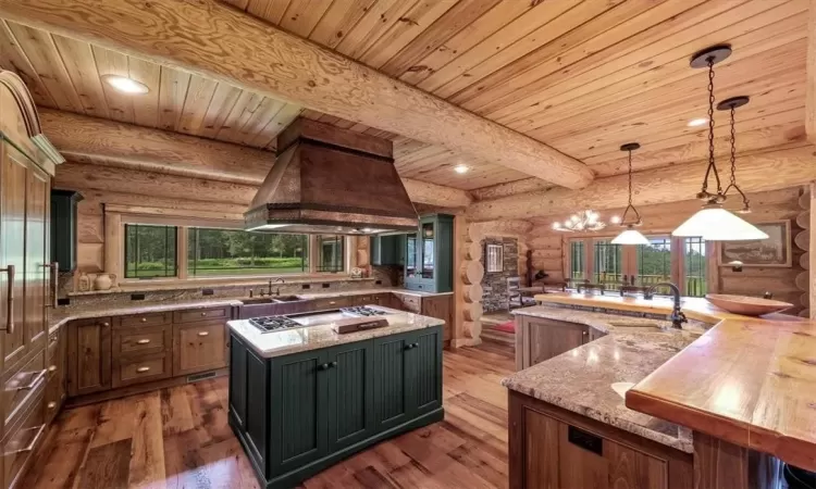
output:
[[[816,179],[813,146],[784,149],[740,158],[740,187],[746,192],[777,190]],[[635,175],[632,190],[635,205],[676,202],[693,198],[707,163],[648,170]],[[596,178],[581,190],[552,188],[529,193],[474,202],[468,208],[470,221],[532,218],[545,215],[567,216],[582,209],[607,210],[627,204],[626,175]],[[724,186],[727,181],[724,183]]]

